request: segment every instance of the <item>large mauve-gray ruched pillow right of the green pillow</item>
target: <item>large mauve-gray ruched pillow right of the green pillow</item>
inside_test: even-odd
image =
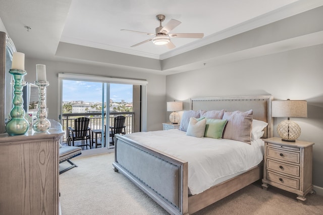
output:
[[[227,119],[228,122],[223,132],[223,138],[251,144],[252,115],[252,110],[247,112],[225,112],[223,119]]]

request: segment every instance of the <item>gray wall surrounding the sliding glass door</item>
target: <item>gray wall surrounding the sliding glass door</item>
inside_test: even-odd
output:
[[[36,64],[46,65],[46,78],[49,82],[47,87],[46,104],[48,119],[58,120],[58,74],[75,73],[98,75],[106,77],[119,77],[129,79],[145,79],[147,84],[147,131],[161,130],[165,119],[166,109],[166,76],[154,75],[146,72],[138,72],[130,69],[120,69],[109,66],[96,66],[82,63],[65,63],[29,59],[26,57],[25,69],[27,75],[25,81],[34,83],[36,80]],[[163,113],[163,114],[160,114]]]

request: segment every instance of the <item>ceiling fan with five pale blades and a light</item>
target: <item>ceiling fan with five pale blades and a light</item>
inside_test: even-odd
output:
[[[181,24],[180,21],[171,19],[164,27],[161,26],[161,22],[165,20],[165,16],[162,14],[156,15],[156,20],[159,21],[159,27],[156,28],[155,33],[147,33],[147,32],[141,32],[141,31],[133,31],[133,30],[126,30],[121,29],[121,31],[130,31],[140,34],[146,34],[149,36],[154,35],[154,37],[147,39],[145,41],[139,42],[137,44],[132,45],[131,47],[135,47],[137,45],[141,45],[143,43],[149,42],[152,40],[152,42],[156,45],[166,45],[169,49],[175,48],[174,43],[171,41],[172,37],[177,38],[202,38],[204,36],[203,33],[169,33],[171,30],[173,30],[175,27],[177,27],[179,24]]]

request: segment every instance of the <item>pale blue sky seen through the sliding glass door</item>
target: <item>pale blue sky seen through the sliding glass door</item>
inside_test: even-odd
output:
[[[105,96],[104,96],[105,98]],[[110,98],[114,102],[132,102],[131,84],[110,84]],[[63,80],[63,101],[90,101],[102,100],[102,83]]]

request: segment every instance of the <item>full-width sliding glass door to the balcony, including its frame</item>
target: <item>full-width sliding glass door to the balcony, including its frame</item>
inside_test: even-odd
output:
[[[59,74],[60,122],[68,144],[74,119],[90,119],[91,148],[114,148],[110,137],[117,116],[125,117],[124,133],[145,131],[146,81]],[[84,145],[85,143],[78,143]],[[89,149],[90,146],[82,146]]]

